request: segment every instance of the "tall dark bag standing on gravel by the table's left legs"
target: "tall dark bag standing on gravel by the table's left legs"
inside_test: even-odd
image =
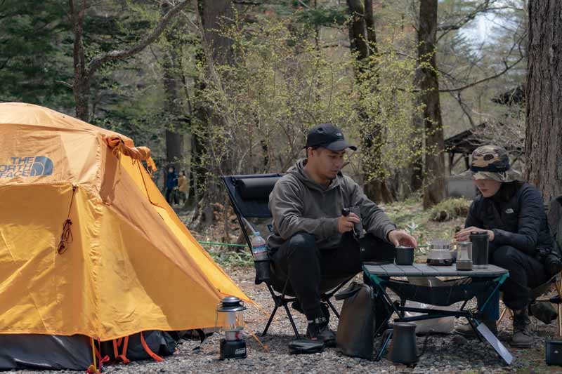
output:
[[[372,359],[375,322],[372,288],[367,284],[352,282],[335,298],[344,300],[336,345],[346,356]]]

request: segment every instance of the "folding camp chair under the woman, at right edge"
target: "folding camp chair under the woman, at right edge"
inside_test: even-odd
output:
[[[558,196],[551,200],[550,204],[545,204],[547,208],[547,215],[549,219],[549,227],[552,236],[554,237],[554,245],[558,248],[562,248],[562,196]],[[556,248],[556,249],[558,249]],[[551,286],[554,284],[556,288],[557,295],[552,298],[541,298],[541,296],[547,294],[551,290]],[[551,276],[551,278],[531,290],[531,298],[534,302],[551,302],[557,305],[558,309],[558,336],[562,337],[562,272],[558,272]],[[504,318],[505,314],[509,310],[508,307],[504,307],[502,314],[500,314],[497,320],[497,325]],[[509,310],[511,316],[513,312]]]

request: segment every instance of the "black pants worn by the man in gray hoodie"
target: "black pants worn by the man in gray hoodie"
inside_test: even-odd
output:
[[[318,249],[314,236],[305,232],[294,234],[280,248],[273,250],[275,274],[284,274],[311,321],[324,316],[320,308],[322,283],[337,281],[361,272],[364,261],[393,261],[394,246],[372,234],[359,244],[350,233],[341,236],[337,248]]]

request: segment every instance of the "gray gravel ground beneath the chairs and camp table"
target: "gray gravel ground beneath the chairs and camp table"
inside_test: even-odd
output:
[[[266,311],[273,308],[273,301],[265,286],[255,286],[252,269],[230,269],[229,274],[240,287],[256,300]],[[359,277],[358,277],[358,280]],[[341,305],[338,306],[341,307]],[[256,307],[244,312],[249,328],[256,332],[263,330],[268,316]],[[298,312],[293,314],[297,328],[306,331],[306,319]],[[337,322],[332,318],[332,328]],[[455,323],[460,323],[456,321]],[[218,334],[212,335],[202,345],[200,352],[193,349],[196,341],[183,341],[173,356],[162,363],[154,361],[133,362],[129,365],[105,366],[105,373],[561,373],[562,368],[549,368],[544,364],[544,340],[556,336],[556,323],[545,325],[532,319],[535,331],[535,345],[531,349],[509,347],[511,321],[505,318],[499,330],[499,338],[514,355],[514,363],[506,366],[489,345],[477,339],[464,340],[455,335],[434,335],[429,339],[426,352],[417,365],[407,367],[395,365],[383,359],[379,362],[354,359],[339,353],[336,348],[326,349],[321,354],[289,355],[287,344],[292,340],[292,328],[285,312],[277,312],[275,321],[261,342],[268,352],[251,336],[247,336],[248,358],[243,360],[218,361]],[[418,347],[424,338],[417,338]],[[375,342],[378,347],[379,340]],[[63,373],[61,371],[20,370],[18,373]]]

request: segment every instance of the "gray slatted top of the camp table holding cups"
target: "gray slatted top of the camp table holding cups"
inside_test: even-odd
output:
[[[429,266],[426,264],[414,265],[364,265],[367,272],[377,276],[469,276],[490,277],[507,274],[507,270],[495,265],[488,265],[486,269],[457,270],[455,265]]]

